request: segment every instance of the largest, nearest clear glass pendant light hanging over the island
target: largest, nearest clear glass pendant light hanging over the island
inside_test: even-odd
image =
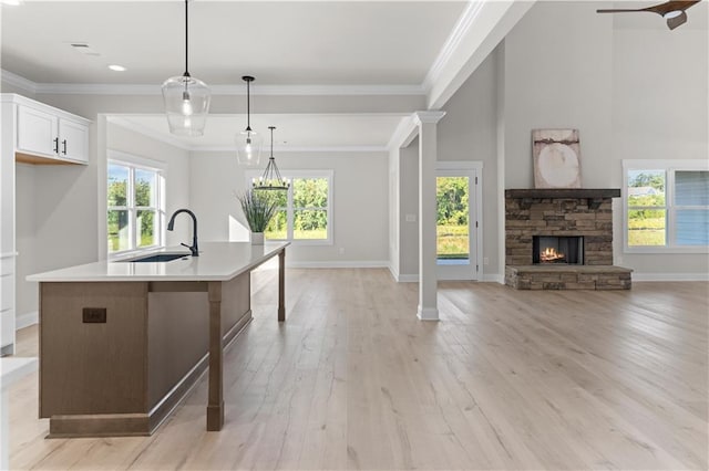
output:
[[[202,136],[209,113],[209,87],[189,75],[187,50],[189,21],[185,0],[185,73],[163,83],[163,101],[169,132],[181,136]]]

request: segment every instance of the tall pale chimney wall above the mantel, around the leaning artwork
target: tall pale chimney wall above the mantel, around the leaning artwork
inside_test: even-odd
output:
[[[542,1],[505,38],[507,188],[534,188],[535,128],[579,129],[582,185],[618,188],[612,153],[613,27],[603,2]]]

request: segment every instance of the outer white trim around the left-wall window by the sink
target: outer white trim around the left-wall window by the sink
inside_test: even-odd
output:
[[[156,249],[161,249],[165,247],[165,224],[166,222],[166,213],[165,213],[165,208],[166,208],[166,201],[165,201],[165,189],[166,189],[166,181],[167,181],[167,164],[164,161],[160,161],[160,160],[154,160],[154,159],[150,159],[146,157],[142,157],[142,156],[136,156],[133,154],[126,154],[120,150],[114,150],[114,149],[107,149],[106,153],[106,180],[107,180],[107,175],[109,175],[109,166],[111,164],[119,164],[119,165],[125,165],[129,167],[138,167],[145,170],[153,170],[153,171],[157,171],[158,172],[158,179],[157,179],[157,196],[158,196],[158,201],[157,201],[157,221],[155,222],[155,226],[158,230],[158,243],[154,244],[154,245],[150,245],[150,247],[141,247],[141,248],[136,248],[136,249],[129,249],[129,250],[122,250],[122,251],[117,251],[117,252],[110,252],[109,251],[109,245],[106,244],[106,258],[107,260],[117,260],[117,259],[124,259],[124,258],[129,258],[135,254],[140,254],[140,253],[145,253],[145,252],[152,252],[155,251]],[[106,181],[107,184],[107,181]],[[131,181],[129,181],[129,185],[131,184]],[[106,185],[106,191],[107,191],[107,185]],[[130,188],[130,191],[132,191],[132,188]],[[106,195],[104,195],[104,198],[106,198]],[[106,201],[106,214],[109,211],[109,206],[107,206],[107,201]],[[104,216],[104,226],[107,224],[106,221],[106,216]],[[135,231],[131,231],[130,237],[131,238],[135,238]],[[134,243],[134,241],[133,241]]]

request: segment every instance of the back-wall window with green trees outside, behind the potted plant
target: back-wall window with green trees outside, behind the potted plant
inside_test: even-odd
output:
[[[276,199],[278,209],[265,232],[267,240],[288,240],[301,244],[332,242],[332,171],[286,171],[288,191],[265,192]],[[247,175],[248,185],[258,175]]]

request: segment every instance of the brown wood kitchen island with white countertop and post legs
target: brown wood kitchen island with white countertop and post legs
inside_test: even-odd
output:
[[[28,276],[40,285],[39,414],[49,437],[151,435],[207,366],[207,430],[220,430],[223,352],[251,320],[250,272],[278,257],[285,321],[287,245],[208,242],[199,257]]]

